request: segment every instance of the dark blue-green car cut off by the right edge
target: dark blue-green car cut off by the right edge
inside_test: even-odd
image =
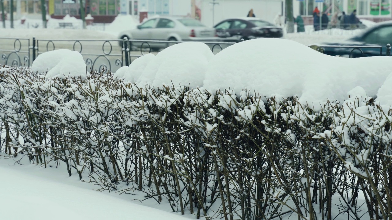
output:
[[[321,43],[324,54],[331,56],[386,56],[387,44],[392,44],[392,21],[380,22],[356,36],[341,42]]]

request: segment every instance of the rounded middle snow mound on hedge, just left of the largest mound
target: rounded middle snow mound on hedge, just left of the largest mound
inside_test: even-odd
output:
[[[162,85],[201,87],[209,61],[214,57],[201,42],[178,43],[159,52],[145,67],[138,82]]]

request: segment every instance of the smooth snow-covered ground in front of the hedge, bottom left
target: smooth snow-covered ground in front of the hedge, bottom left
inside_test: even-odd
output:
[[[9,166],[0,159],[2,219],[160,219],[185,220],[181,216],[126,200],[114,193],[93,191],[55,168],[42,170],[32,165]],[[44,214],[43,214],[44,210]]]

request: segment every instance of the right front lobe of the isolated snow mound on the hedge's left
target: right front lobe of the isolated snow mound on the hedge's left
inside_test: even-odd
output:
[[[72,51],[64,56],[60,62],[49,70],[46,74],[47,78],[71,78],[81,77],[85,79],[88,76],[87,66],[83,60],[82,54],[78,51]]]

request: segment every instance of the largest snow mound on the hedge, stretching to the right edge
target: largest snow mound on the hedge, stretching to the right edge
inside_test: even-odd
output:
[[[339,58],[291,40],[261,38],[236,43],[209,62],[204,85],[243,89],[265,97],[298,96],[318,108],[327,99],[343,101],[353,88],[376,96],[392,70],[392,57]]]

